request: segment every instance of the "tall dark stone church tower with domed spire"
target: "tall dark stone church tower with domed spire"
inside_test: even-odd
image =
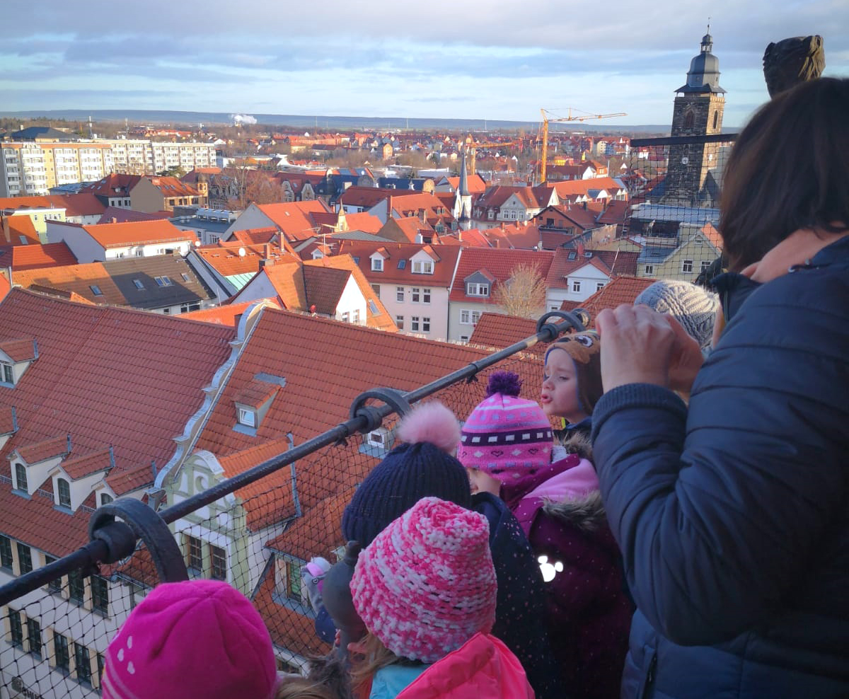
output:
[[[675,91],[672,137],[704,137],[722,132],[725,90],[719,87],[719,59],[711,54],[711,28],[701,38],[701,51],[690,61],[687,82]],[[666,186],[661,204],[716,206],[714,172],[720,143],[684,143],[669,147]]]

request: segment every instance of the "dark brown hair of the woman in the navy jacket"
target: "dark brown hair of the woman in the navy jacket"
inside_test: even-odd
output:
[[[756,262],[800,228],[849,226],[849,79],[803,82],[740,132],[722,182],[730,268]]]

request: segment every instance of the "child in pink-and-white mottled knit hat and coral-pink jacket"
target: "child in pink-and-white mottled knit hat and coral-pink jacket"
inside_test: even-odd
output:
[[[489,632],[496,577],[486,517],[423,498],[357,559],[354,606],[368,629],[356,685],[370,699],[533,699],[519,660]]]

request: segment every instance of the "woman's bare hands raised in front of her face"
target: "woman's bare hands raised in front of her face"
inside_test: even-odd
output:
[[[622,304],[614,310],[605,308],[595,326],[601,335],[601,381],[605,392],[631,383],[672,386],[672,364],[677,365],[672,371],[676,385],[686,382],[693,358],[689,352],[684,353],[685,357],[676,357],[677,352],[681,354],[679,345],[683,343],[661,313],[648,306]],[[683,328],[680,330],[683,332]]]

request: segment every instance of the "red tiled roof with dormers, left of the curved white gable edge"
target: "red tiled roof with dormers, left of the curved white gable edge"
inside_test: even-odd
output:
[[[0,414],[15,407],[19,430],[0,450],[0,532],[50,555],[87,540],[89,514],[22,499],[8,482],[14,449],[71,436],[70,459],[115,448],[108,476],[116,493],[152,482],[173,437],[200,408],[202,391],[228,358],[233,329],[155,313],[83,306],[13,289],[0,303],[0,339],[34,336],[39,357],[17,386],[0,389]],[[132,429],[128,429],[132,426]],[[41,487],[52,488],[50,481]]]

